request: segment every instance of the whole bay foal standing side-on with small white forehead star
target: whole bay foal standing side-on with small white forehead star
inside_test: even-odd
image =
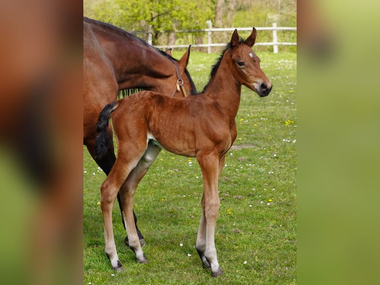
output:
[[[203,267],[212,276],[222,274],[216,256],[214,231],[219,214],[218,180],[225,153],[236,138],[235,117],[244,84],[260,97],[267,96],[271,81],[260,69],[252,46],[256,29],[245,40],[234,31],[231,42],[211,71],[203,92],[184,99],[142,91],[108,104],[100,113],[97,131],[99,155],[109,143],[107,126],[112,114],[118,143],[116,162],[101,186],[101,209],[104,218],[105,252],[112,268],[123,271],[114,241],[112,208],[116,196],[123,202],[129,247],[139,263],[147,263],[133,221],[133,194],[139,182],[136,168],[156,156],[161,147],[188,157],[196,157],[203,176],[202,214],[196,238],[196,250]],[[153,140],[155,147],[147,148]],[[137,166],[140,163],[140,166]],[[142,163],[142,164],[141,164]],[[135,168],[136,167],[136,168]],[[123,187],[122,187],[123,186]]]

